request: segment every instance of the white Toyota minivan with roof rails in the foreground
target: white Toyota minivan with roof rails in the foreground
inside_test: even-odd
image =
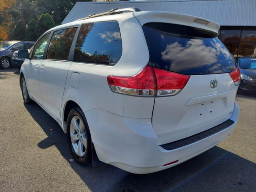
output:
[[[18,52],[24,102],[60,124],[80,164],[170,168],[225,140],[238,120],[240,72],[219,28],[137,8],[54,27]]]

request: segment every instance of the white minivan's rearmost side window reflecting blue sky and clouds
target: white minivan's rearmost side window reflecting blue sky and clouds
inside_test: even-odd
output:
[[[118,22],[95,22],[81,26],[74,61],[96,64],[116,63],[122,55]]]

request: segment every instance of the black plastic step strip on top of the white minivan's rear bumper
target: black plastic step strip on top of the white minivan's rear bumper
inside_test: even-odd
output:
[[[222,124],[219,124],[219,125],[217,125],[213,128],[210,128],[206,131],[200,132],[198,134],[192,135],[192,136],[184,138],[184,139],[180,139],[180,140],[177,140],[177,141],[174,141],[174,142],[163,144],[163,145],[160,145],[160,146],[162,148],[166,149],[166,150],[173,150],[173,149],[176,149],[176,148],[180,148],[180,147],[192,144],[194,142],[197,142],[199,140],[202,140],[202,139],[204,139],[206,137],[209,137],[213,134],[216,134],[216,133],[228,128],[232,124],[234,124],[234,121],[229,119],[229,120],[223,122]]]

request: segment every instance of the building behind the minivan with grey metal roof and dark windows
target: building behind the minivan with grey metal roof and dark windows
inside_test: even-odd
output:
[[[256,0],[147,0],[77,2],[62,24],[114,8],[136,7],[206,18],[220,24],[219,38],[234,57],[256,56]]]

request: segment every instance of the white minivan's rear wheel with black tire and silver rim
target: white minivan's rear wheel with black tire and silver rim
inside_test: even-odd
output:
[[[84,113],[79,107],[72,108],[68,114],[67,134],[74,160],[80,164],[90,163],[91,135]]]

